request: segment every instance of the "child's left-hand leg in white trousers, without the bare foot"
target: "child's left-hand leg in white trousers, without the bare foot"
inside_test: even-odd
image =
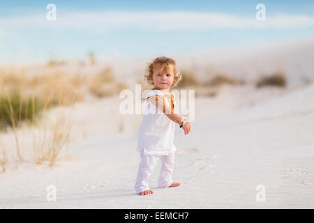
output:
[[[141,162],[138,167],[135,190],[137,194],[149,190],[149,176],[154,170],[157,157],[155,155],[144,155],[144,149],[140,151]]]

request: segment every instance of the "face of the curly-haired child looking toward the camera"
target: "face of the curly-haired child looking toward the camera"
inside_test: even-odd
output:
[[[174,73],[172,64],[163,65],[154,69],[153,82],[158,89],[170,89],[172,86]]]

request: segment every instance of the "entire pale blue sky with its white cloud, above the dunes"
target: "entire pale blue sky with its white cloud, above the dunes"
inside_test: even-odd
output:
[[[57,6],[47,21],[46,6]],[[255,6],[264,3],[266,21]],[[0,2],[0,63],[188,54],[314,38],[314,1]]]

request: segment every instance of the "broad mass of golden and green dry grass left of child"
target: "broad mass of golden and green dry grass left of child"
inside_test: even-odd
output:
[[[0,127],[2,125],[6,131],[8,127],[12,128],[10,136],[14,136],[15,144],[10,140],[10,144],[5,146],[12,148],[10,157],[13,160],[29,160],[29,152],[33,152],[32,157],[37,164],[49,163],[50,167],[62,157],[70,142],[73,125],[68,119],[73,115],[57,116],[53,122],[44,124],[49,122],[44,117],[47,111],[70,107],[84,100],[87,93],[105,97],[119,95],[122,89],[128,88],[124,82],[114,79],[110,67],[96,75],[77,72],[64,61],[50,61],[43,68],[27,69],[31,68],[0,70]],[[20,134],[19,128],[24,127],[33,131]],[[123,123],[119,130],[124,131]],[[8,160],[6,152],[0,152],[0,166],[4,171]]]

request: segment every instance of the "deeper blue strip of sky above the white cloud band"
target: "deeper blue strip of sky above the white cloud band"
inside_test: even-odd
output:
[[[48,3],[54,3],[65,10],[100,10],[100,9],[127,9],[127,10],[196,10],[196,11],[215,11],[220,13],[234,14],[255,14],[252,10],[257,3],[267,5],[267,13],[292,13],[313,15],[313,1],[195,1],[195,0],[160,0],[160,1],[130,1],[130,0],[115,0],[115,1],[77,1],[77,0],[53,0],[53,1],[16,1],[16,0],[1,0],[0,12],[1,15],[12,15],[18,13],[19,10],[29,9],[24,13],[32,13],[33,10],[41,10]]]

